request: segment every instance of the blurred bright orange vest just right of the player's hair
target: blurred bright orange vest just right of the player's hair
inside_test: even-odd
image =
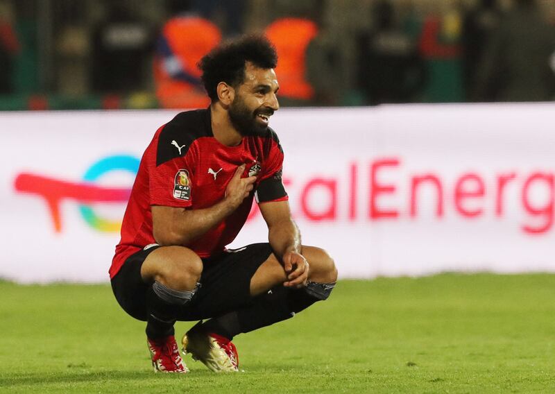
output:
[[[314,89],[305,80],[306,53],[310,41],[318,34],[318,27],[309,19],[278,19],[266,28],[266,36],[278,51],[280,95],[291,99],[309,100]]]

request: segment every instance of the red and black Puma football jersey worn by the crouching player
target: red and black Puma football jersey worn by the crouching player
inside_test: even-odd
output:
[[[110,278],[130,255],[156,243],[151,205],[212,207],[224,198],[225,188],[241,164],[246,164],[244,177],[257,175],[253,193],[235,212],[187,246],[200,257],[222,252],[237,237],[255,195],[258,203],[287,200],[281,179],[283,151],[271,128],[264,136],[244,137],[237,146],[221,144],[212,133],[210,109],[181,112],[158,129],[139,165]]]

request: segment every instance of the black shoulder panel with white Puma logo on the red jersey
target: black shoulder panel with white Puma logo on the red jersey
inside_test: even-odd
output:
[[[212,136],[210,111],[195,110],[181,112],[171,119],[158,137],[156,166],[176,157],[187,155],[191,144],[199,137]]]

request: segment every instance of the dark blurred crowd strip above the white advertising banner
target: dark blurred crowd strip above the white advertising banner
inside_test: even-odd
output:
[[[203,107],[253,32],[285,106],[555,101],[554,0],[0,0],[0,110]]]

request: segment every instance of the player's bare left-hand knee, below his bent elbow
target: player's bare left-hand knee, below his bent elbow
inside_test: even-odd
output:
[[[195,252],[182,246],[162,246],[146,257],[141,275],[146,281],[154,281],[177,291],[196,287],[203,262]]]

